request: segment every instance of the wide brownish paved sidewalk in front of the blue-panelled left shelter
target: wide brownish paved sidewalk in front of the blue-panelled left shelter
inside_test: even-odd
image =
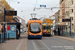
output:
[[[0,50],[27,50],[27,34],[21,34],[18,40],[7,40],[6,43],[1,43]]]

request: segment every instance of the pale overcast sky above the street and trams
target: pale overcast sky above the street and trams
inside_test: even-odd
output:
[[[59,8],[55,9],[33,9],[41,8],[40,5],[46,5],[46,8],[59,7],[59,0],[6,0],[8,4],[17,10],[17,16],[23,18],[27,23],[31,18],[32,13],[36,14],[36,18],[49,18],[59,10]]]

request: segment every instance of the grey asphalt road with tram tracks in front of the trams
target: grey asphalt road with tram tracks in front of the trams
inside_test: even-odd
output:
[[[28,40],[28,50],[75,50],[75,42],[57,37]]]

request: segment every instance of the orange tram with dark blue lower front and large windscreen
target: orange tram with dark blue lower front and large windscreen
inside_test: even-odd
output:
[[[42,21],[32,18],[28,21],[28,39],[42,38]]]

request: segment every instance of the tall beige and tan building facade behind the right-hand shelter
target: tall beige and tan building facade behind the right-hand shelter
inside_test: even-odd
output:
[[[60,0],[60,17],[61,19],[70,19],[71,17],[71,27],[70,22],[62,22],[66,26],[63,26],[64,36],[70,36],[71,28],[71,37],[75,37],[75,0]]]

